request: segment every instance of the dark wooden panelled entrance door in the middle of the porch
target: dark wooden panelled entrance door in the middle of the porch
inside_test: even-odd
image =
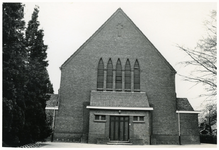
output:
[[[129,140],[129,117],[110,116],[110,140],[128,141]]]

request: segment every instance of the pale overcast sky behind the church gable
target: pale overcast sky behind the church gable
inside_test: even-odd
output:
[[[179,74],[185,68],[177,63],[185,60],[186,55],[176,44],[195,47],[206,34],[204,21],[212,10],[217,10],[216,2],[26,2],[26,23],[35,5],[39,6],[40,29],[44,30],[44,43],[48,45],[48,71],[55,93],[60,87],[59,67],[118,8],[122,8]],[[200,91],[176,75],[177,97],[189,98],[193,107],[198,108]]]

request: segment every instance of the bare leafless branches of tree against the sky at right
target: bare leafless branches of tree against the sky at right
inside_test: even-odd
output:
[[[202,84],[207,100],[216,100],[217,96],[217,12],[211,12],[210,20],[205,21],[207,34],[203,37],[194,49],[177,47],[186,52],[189,60],[181,62],[185,66],[193,66],[193,71],[189,75],[180,75],[186,81]]]

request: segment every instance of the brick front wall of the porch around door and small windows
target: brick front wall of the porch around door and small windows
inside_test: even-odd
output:
[[[89,143],[109,142],[110,116],[129,117],[129,138],[133,144],[150,144],[150,115],[149,111],[128,111],[122,110],[90,110],[89,121]],[[105,121],[95,121],[95,114],[106,115]],[[144,122],[134,122],[133,116],[144,116]],[[102,141],[102,142],[101,142]]]

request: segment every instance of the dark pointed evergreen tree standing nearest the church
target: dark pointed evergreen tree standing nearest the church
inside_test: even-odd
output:
[[[51,85],[46,67],[48,66],[47,46],[43,41],[43,30],[39,30],[37,21],[39,8],[35,7],[31,20],[28,22],[25,41],[28,51],[28,101],[26,102],[26,135],[30,135],[29,142],[43,140],[50,134],[49,125],[46,121],[45,107],[49,100]],[[50,89],[50,90],[49,90]]]

